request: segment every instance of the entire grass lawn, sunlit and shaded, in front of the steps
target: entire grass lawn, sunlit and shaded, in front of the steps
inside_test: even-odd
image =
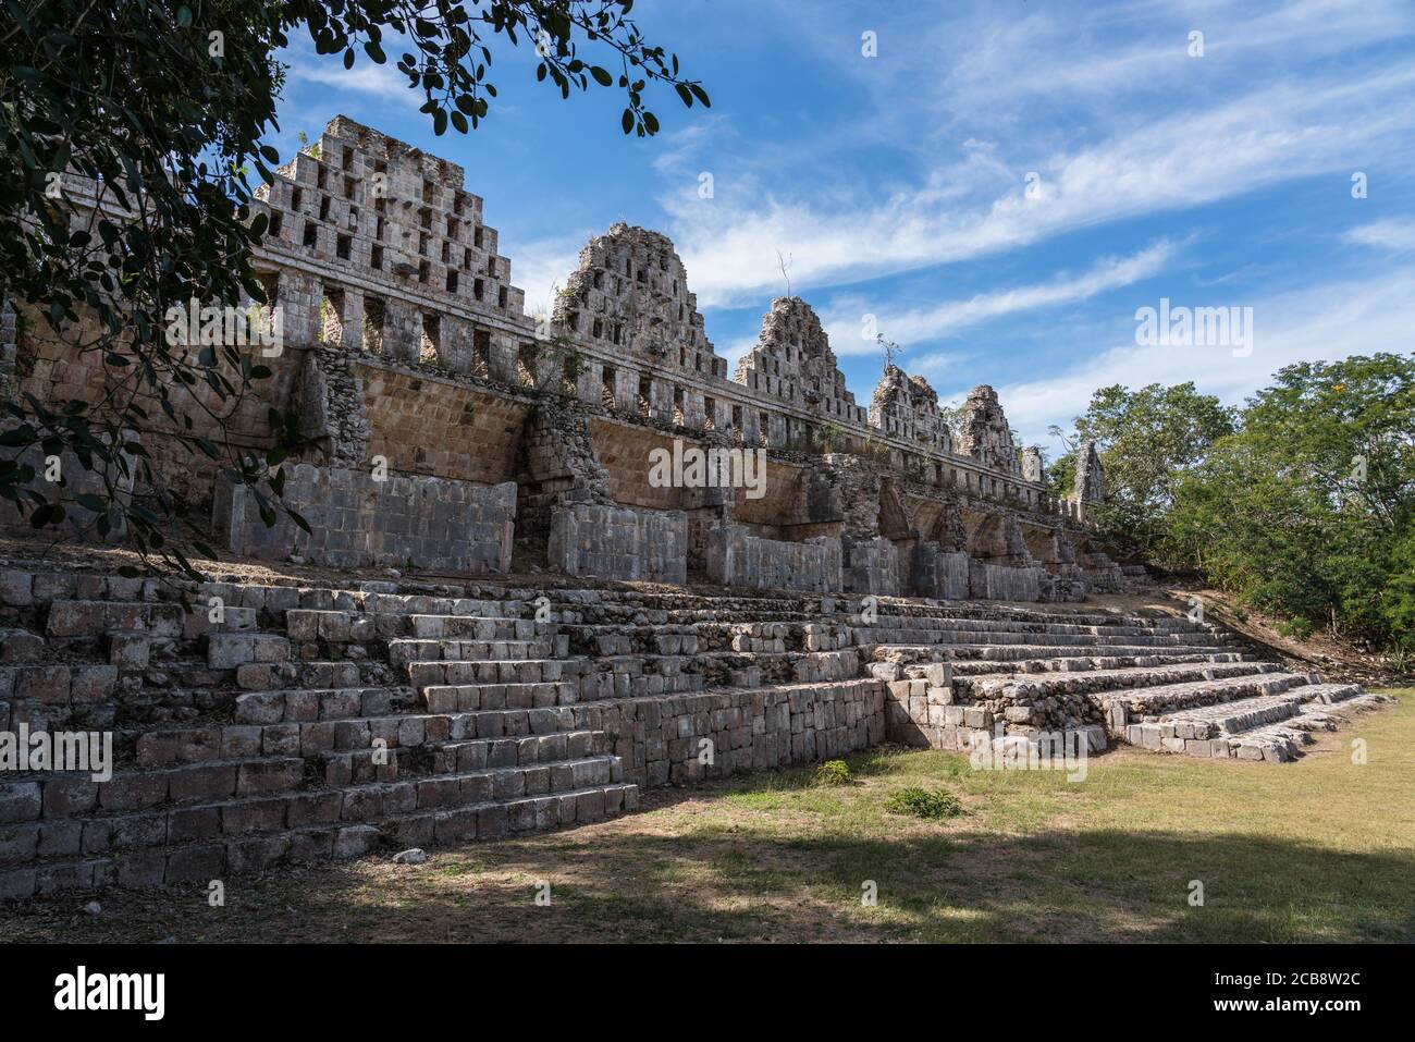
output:
[[[880,750],[849,757],[849,786],[804,769],[659,790],[630,817],[419,866],[228,879],[225,908],[197,888],[108,893],[98,915],[89,898],[11,906],[0,940],[1409,941],[1415,689],[1392,694],[1289,765],[1121,749],[1073,783]],[[907,786],[965,813],[889,813]]]

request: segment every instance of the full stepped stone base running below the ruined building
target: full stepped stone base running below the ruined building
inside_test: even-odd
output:
[[[112,780],[0,780],[0,896],[495,838],[894,739],[1081,731],[1290,759],[1380,697],[1176,617],[829,596],[351,589],[0,572],[0,731]]]

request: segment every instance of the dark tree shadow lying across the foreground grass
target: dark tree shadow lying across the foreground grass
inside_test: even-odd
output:
[[[550,905],[536,886],[550,883]],[[867,881],[877,905],[862,903]],[[1193,882],[1204,903],[1190,905]],[[716,941],[1415,940],[1415,859],[1257,835],[1078,831],[777,840],[590,827],[439,851],[415,871],[324,866],[202,895],[50,902],[10,940]],[[109,895],[105,903],[115,898]]]

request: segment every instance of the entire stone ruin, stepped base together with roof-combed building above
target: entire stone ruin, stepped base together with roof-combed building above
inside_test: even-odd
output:
[[[160,429],[143,446],[233,558],[342,575],[0,563],[0,767],[18,729],[116,760],[0,773],[0,898],[593,821],[884,740],[1286,760],[1377,701],[1211,624],[1058,606],[1142,572],[1087,524],[1094,446],[1058,500],[992,388],[957,445],[897,367],[866,412],[799,297],[729,378],[657,232],[594,238],[536,320],[461,168],[352,120],[260,204],[284,344],[226,430],[265,449],[267,408],[296,416],[313,534]],[[0,314],[11,388],[103,394],[30,304]],[[751,453],[763,481],[652,483],[655,450]]]

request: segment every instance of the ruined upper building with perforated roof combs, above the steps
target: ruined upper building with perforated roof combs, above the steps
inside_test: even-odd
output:
[[[258,195],[269,235],[256,268],[284,343],[260,360],[275,372],[263,398],[225,435],[267,447],[280,436],[267,406],[293,413],[287,500],[330,522],[314,537],[267,529],[214,463],[149,433],[161,479],[209,504],[232,552],[487,572],[518,554],[600,579],[792,589],[799,573],[801,589],[833,593],[1041,602],[1116,586],[1084,524],[1099,486],[1053,497],[1039,456],[1023,469],[990,388],[968,396],[958,446],[934,389],[897,367],[866,411],[799,297],[773,302],[729,378],[664,235],[614,225],[582,251],[550,314],[528,316],[453,163],[338,118]],[[50,401],[105,387],[102,365],[41,321],[4,328],[21,389]],[[675,440],[761,450],[764,496],[651,487],[649,454]],[[379,464],[393,486],[371,476]],[[955,559],[935,568],[940,554]]]

